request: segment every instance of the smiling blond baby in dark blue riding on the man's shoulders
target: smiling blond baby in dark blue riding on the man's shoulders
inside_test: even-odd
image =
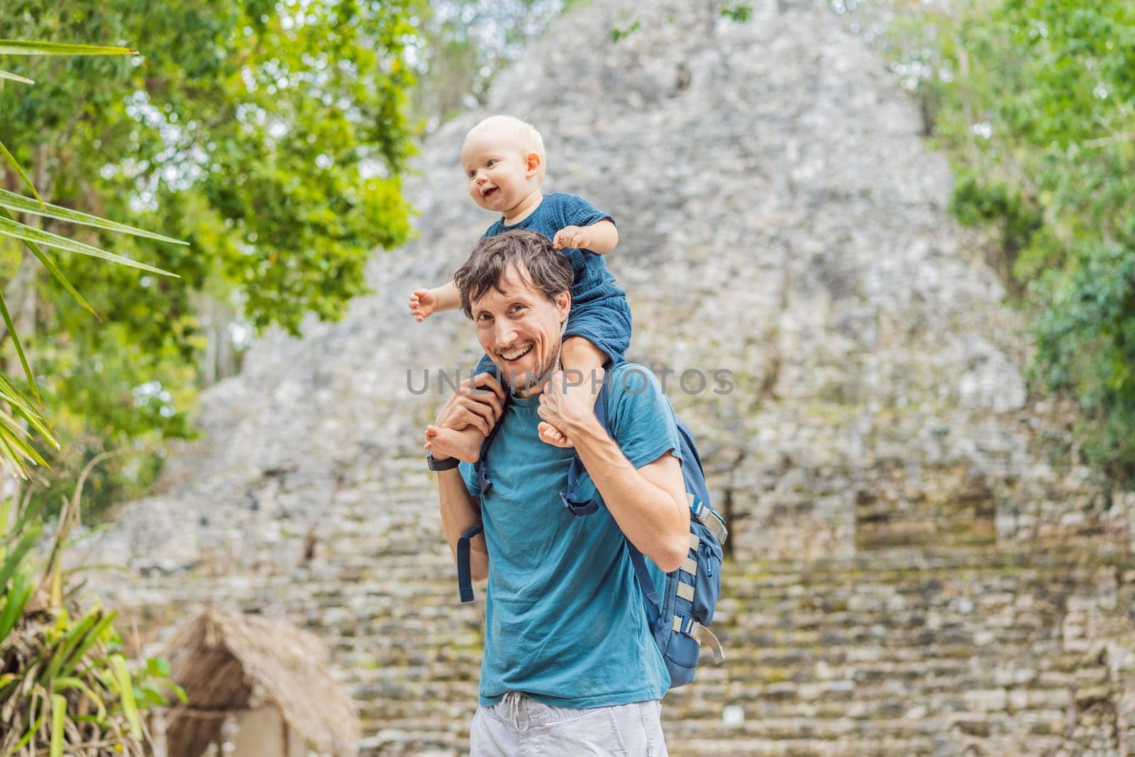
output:
[[[615,285],[603,255],[619,244],[614,219],[582,197],[540,192],[544,180],[544,140],[530,124],[510,116],[491,116],[470,129],[461,148],[461,165],[469,179],[469,194],[481,208],[501,218],[485,232],[495,236],[513,229],[538,232],[552,239],[571,261],[571,313],[564,331],[561,362],[574,381],[581,376],[583,387],[597,392],[596,371],[604,364],[623,360],[630,346],[631,311],[627,293]],[[461,306],[461,295],[451,280],[432,289],[417,289],[410,295],[410,313],[422,321],[443,310]],[[488,355],[481,358],[477,372],[496,373]],[[573,371],[578,371],[574,373]],[[505,377],[507,379],[507,377]],[[571,443],[550,423],[541,422],[540,438],[555,446]],[[485,435],[473,426],[460,431],[427,430],[446,439],[454,456],[476,462]],[[460,436],[460,438],[456,438]]]

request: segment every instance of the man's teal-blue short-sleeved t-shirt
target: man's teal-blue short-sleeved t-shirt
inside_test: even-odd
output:
[[[641,365],[609,373],[608,423],[634,468],[679,447],[670,401]],[[574,451],[540,441],[539,395],[512,397],[489,449],[493,487],[481,503],[489,553],[480,704],[521,691],[560,707],[659,699],[670,675],[647,628],[622,531],[602,504],[564,508]],[[473,466],[461,464],[477,496]],[[597,497],[590,477],[579,497]]]

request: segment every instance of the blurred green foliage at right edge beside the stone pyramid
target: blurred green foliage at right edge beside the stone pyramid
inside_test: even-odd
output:
[[[952,207],[1001,233],[1035,375],[1086,457],[1135,477],[1135,5],[970,0],[898,27],[896,69],[949,151]]]

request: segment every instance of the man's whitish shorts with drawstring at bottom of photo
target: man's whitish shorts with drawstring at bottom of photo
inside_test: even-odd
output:
[[[469,730],[472,757],[595,755],[666,757],[662,701],[572,709],[543,705],[519,691],[478,707]]]

